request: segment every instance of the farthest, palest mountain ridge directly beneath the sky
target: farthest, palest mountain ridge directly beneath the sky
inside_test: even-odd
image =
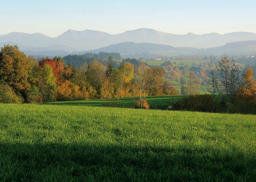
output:
[[[218,33],[206,33],[196,35],[187,33],[176,35],[154,29],[136,29],[112,35],[110,33],[95,30],[67,30],[61,35],[51,38],[42,33],[12,32],[0,35],[0,42],[16,42],[23,46],[48,47],[51,45],[64,45],[77,50],[93,50],[121,42],[153,43],[173,47],[211,48],[226,45],[229,42],[256,40],[256,34],[250,32],[231,32],[224,35]]]

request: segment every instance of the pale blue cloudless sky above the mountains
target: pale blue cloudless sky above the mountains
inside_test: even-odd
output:
[[[256,33],[256,0],[1,0],[0,35],[57,37],[68,29],[111,34],[139,28],[196,34]]]

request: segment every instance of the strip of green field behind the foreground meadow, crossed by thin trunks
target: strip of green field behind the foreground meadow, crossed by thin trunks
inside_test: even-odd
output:
[[[164,95],[164,96],[148,96],[149,106],[151,109],[167,109],[168,106],[174,101],[179,101],[186,95]],[[133,107],[135,105],[135,100],[139,98],[126,97],[120,98],[118,105],[116,106],[116,99],[112,99],[112,106],[114,107]],[[108,100],[106,100],[108,104]],[[93,100],[74,100],[74,101],[58,101],[50,102],[49,104],[53,105],[80,105],[80,106],[105,106],[103,99],[93,99]]]

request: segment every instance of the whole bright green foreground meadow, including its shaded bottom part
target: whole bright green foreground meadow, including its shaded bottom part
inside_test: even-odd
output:
[[[254,115],[0,104],[0,181],[254,181]]]

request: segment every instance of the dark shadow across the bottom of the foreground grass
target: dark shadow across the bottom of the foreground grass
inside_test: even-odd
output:
[[[102,144],[0,144],[2,181],[253,181],[255,158]]]

